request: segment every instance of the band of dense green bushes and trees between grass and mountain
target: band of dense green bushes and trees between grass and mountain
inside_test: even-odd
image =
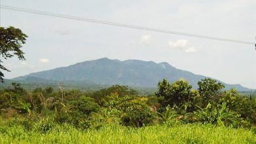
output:
[[[198,89],[187,81],[171,84],[163,79],[155,94],[138,96],[136,90],[119,85],[96,92],[61,86],[59,90],[47,87],[27,91],[13,83],[12,88],[0,90],[0,115],[2,120],[26,130],[36,127],[43,133],[58,124],[79,130],[106,124],[142,127],[177,122],[255,128],[256,99],[223,88],[213,79],[202,79]]]

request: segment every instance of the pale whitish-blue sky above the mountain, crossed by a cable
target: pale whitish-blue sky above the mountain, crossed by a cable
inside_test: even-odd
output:
[[[0,0],[1,5],[255,43],[255,0]],[[171,35],[1,9],[0,25],[28,35],[26,61],[5,60],[5,78],[110,58],[168,62],[256,88],[254,45]]]

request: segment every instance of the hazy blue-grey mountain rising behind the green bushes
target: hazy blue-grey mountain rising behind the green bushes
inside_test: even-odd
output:
[[[206,78],[203,75],[195,75],[189,71],[177,69],[166,62],[144,62],[141,60],[110,60],[101,58],[81,63],[76,63],[68,67],[59,67],[48,71],[31,73],[23,77],[12,80],[36,80],[51,81],[73,81],[73,82],[94,82],[96,84],[122,84],[140,87],[157,87],[158,82],[167,79],[174,82],[179,79],[186,79],[197,88],[197,82]],[[221,81],[219,81],[221,82]],[[226,89],[236,88],[240,91],[250,90],[240,84],[225,84]]]

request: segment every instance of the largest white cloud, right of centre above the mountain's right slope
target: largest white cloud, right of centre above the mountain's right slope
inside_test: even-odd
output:
[[[195,47],[188,45],[188,40],[179,39],[177,41],[169,41],[169,46],[171,48],[177,48],[179,50],[184,50],[184,52],[197,52]]]

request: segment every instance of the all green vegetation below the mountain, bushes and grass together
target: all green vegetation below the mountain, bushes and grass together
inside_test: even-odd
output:
[[[0,143],[256,143],[256,99],[202,79],[97,91],[0,90]]]

